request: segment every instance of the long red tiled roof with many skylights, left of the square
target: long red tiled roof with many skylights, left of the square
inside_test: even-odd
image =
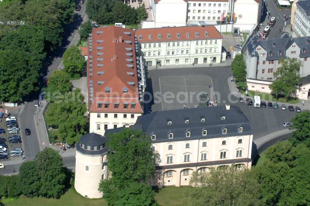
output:
[[[88,45],[89,111],[142,113],[134,31],[116,26],[94,28]],[[108,93],[105,92],[107,87],[110,91]],[[127,93],[123,93],[123,89]],[[109,103],[108,109],[104,109],[104,102]],[[114,109],[114,102],[119,103],[118,109]],[[124,102],[128,102],[128,109],[123,109]],[[135,103],[135,109],[130,107],[132,102]],[[97,103],[102,103],[102,108],[97,108]]]

